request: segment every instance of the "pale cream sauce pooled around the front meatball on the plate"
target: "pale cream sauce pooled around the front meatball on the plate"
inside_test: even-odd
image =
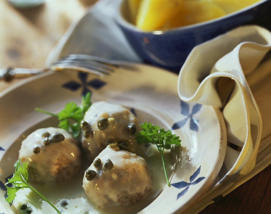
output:
[[[141,145],[140,156],[143,157],[153,175],[153,190],[140,202],[135,203],[132,206],[114,206],[99,208],[95,204],[89,201],[85,191],[82,187],[82,180],[85,170],[88,168],[88,161],[84,161],[81,171],[70,180],[63,182],[56,182],[50,185],[43,185],[37,183],[31,183],[31,185],[43,194],[47,199],[52,202],[57,209],[62,210],[65,213],[137,213],[144,207],[148,206],[166,186],[166,179],[162,166],[161,156],[156,148],[156,145]],[[171,154],[168,150],[164,151],[164,157],[169,176],[173,172]],[[25,213],[20,210],[20,207],[24,203],[28,203],[33,207],[33,213],[56,213],[54,209],[42,200],[36,193],[29,189],[19,190],[17,197],[13,201],[13,206],[18,209],[18,212]],[[61,206],[61,202],[67,200],[69,205],[66,207]]]

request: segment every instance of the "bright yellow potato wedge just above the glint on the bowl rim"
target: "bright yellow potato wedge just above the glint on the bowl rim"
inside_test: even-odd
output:
[[[180,9],[182,0],[142,0],[136,17],[141,30],[157,30],[167,23]]]

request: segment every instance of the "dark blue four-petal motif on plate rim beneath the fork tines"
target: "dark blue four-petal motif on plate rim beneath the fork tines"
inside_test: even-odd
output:
[[[78,78],[80,82],[77,81],[69,81],[62,85],[62,87],[67,88],[71,91],[77,91],[79,88],[82,87],[82,95],[86,95],[87,92],[91,92],[90,87],[95,89],[100,89],[104,85],[106,85],[106,82],[100,80],[100,79],[92,79],[91,81],[87,81],[88,74],[85,72],[78,72]]]

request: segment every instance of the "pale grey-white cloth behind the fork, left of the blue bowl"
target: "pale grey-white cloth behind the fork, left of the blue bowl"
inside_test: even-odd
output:
[[[46,66],[50,66],[57,57],[66,53],[142,62],[114,21],[115,11],[120,1],[99,0],[96,2],[81,20],[69,27],[49,54]]]

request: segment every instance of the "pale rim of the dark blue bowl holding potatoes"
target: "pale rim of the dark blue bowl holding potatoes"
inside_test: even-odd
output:
[[[119,2],[119,4],[117,5],[116,21],[117,21],[118,24],[120,24],[120,25],[122,25],[124,27],[127,27],[130,30],[136,31],[136,32],[160,35],[160,34],[164,34],[164,33],[172,33],[173,31],[189,30],[189,29],[194,28],[194,27],[201,27],[201,26],[204,26],[204,25],[211,24],[213,22],[221,21],[221,20],[227,19],[227,18],[229,18],[231,16],[234,16],[236,14],[248,11],[249,9],[257,7],[258,5],[261,5],[264,2],[267,2],[267,1],[270,1],[270,0],[260,0],[260,1],[257,1],[254,4],[251,4],[251,5],[249,5],[247,7],[244,7],[242,9],[240,9],[240,10],[237,10],[235,12],[226,14],[226,15],[224,15],[222,17],[218,17],[218,18],[211,19],[211,20],[208,20],[208,21],[204,21],[204,22],[200,22],[200,23],[195,23],[195,24],[190,24],[190,25],[185,25],[185,26],[181,26],[181,27],[169,28],[168,30],[153,30],[153,31],[141,30],[141,29],[137,28],[135,25],[133,25],[130,22],[128,22],[127,20],[125,20],[125,18],[123,17],[123,15],[121,13],[121,7],[122,7],[124,1],[127,1],[127,0],[121,0]]]

